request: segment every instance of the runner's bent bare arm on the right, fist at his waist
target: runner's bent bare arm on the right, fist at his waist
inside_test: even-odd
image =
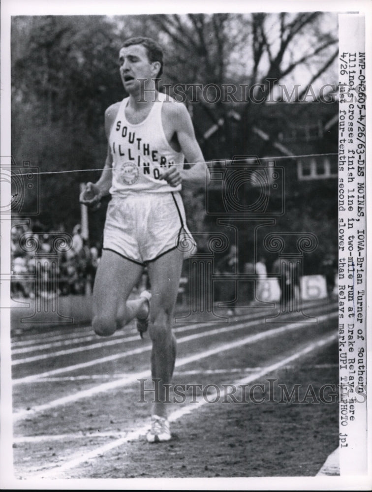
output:
[[[181,182],[189,185],[206,183],[207,179],[209,181],[208,167],[195,138],[191,117],[186,106],[182,103],[167,104],[167,109],[174,122],[181,150],[186,161],[190,163],[190,169],[181,169],[180,166],[170,167],[162,174],[162,179],[165,179],[171,186],[177,186]]]

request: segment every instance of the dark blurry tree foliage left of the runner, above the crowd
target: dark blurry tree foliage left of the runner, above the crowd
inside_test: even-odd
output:
[[[113,31],[101,16],[13,19],[12,155],[17,162],[31,160],[41,172],[102,168],[104,110],[123,93]],[[50,227],[65,222],[72,229],[80,220],[79,183],[98,176],[42,175],[42,221]]]

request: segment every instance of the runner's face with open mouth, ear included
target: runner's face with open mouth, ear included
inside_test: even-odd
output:
[[[141,87],[139,79],[145,79],[147,86],[156,77],[155,63],[149,61],[147,50],[142,44],[122,48],[119,52],[119,64],[124,89],[129,93],[138,92]]]

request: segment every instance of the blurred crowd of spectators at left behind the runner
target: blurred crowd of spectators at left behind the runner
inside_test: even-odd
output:
[[[64,248],[56,247],[58,238],[67,240]],[[91,293],[100,254],[80,224],[70,233],[62,225],[48,232],[38,222],[18,223],[11,229],[12,297]]]

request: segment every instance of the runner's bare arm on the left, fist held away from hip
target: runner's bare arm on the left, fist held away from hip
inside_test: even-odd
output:
[[[105,112],[105,133],[107,140],[110,136],[111,127],[115,121],[120,103],[112,104]],[[80,195],[80,203],[85,205],[96,205],[103,196],[109,194],[112,183],[112,155],[110,145],[107,145],[107,155],[101,177],[96,183],[87,183]]]

